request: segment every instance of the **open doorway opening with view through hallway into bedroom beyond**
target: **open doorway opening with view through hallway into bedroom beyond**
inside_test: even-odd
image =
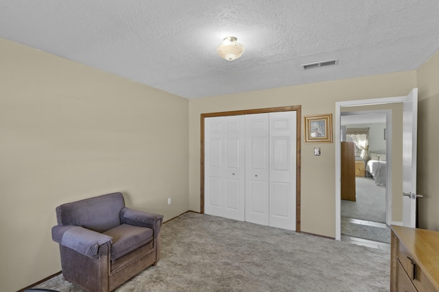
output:
[[[343,110],[343,109],[342,109]],[[352,110],[351,108],[349,110]],[[341,236],[343,241],[358,241],[363,245],[390,248],[388,226],[387,157],[392,155],[388,142],[392,137],[392,111],[342,111],[340,117],[342,143],[351,144],[350,156],[342,155],[355,166],[353,173],[342,174],[342,185],[352,187],[346,196],[342,187]],[[342,148],[344,149],[344,148]],[[343,152],[342,152],[343,153]],[[391,170],[389,170],[391,171]],[[346,181],[353,181],[348,182]],[[354,182],[355,181],[355,182]],[[391,183],[391,182],[390,182]]]

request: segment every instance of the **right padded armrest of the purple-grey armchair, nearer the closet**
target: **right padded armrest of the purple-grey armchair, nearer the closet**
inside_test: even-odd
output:
[[[160,231],[163,215],[149,213],[125,207],[121,210],[121,222],[134,226],[148,227],[154,230],[154,237]]]

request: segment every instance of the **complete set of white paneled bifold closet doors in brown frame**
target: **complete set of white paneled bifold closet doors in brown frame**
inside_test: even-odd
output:
[[[204,119],[204,212],[296,229],[296,111]]]

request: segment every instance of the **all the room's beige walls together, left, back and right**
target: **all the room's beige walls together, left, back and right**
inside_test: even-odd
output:
[[[200,114],[209,112],[302,105],[302,116],[334,114],[337,101],[418,87],[420,222],[439,230],[431,135],[439,126],[439,54],[417,72],[189,101],[1,38],[0,64],[0,291],[60,271],[50,234],[58,204],[122,191],[128,206],[165,220],[200,211]],[[302,231],[335,237],[335,144],[301,146]]]

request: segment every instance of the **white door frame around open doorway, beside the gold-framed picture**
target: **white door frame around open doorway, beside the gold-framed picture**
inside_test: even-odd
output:
[[[342,219],[341,219],[341,152],[340,152],[340,141],[341,141],[341,125],[340,125],[340,116],[342,107],[359,107],[363,105],[385,105],[389,103],[403,103],[406,100],[407,96],[395,96],[395,97],[385,97],[385,98],[371,98],[371,99],[362,99],[356,101],[338,101],[335,103],[335,240],[340,241],[342,239]],[[391,135],[391,133],[388,133]],[[388,145],[389,146],[389,145]],[[390,165],[388,165],[390,166]],[[388,167],[388,176],[387,179],[390,181],[391,171],[389,171],[390,167]],[[389,194],[388,196],[392,196]]]

